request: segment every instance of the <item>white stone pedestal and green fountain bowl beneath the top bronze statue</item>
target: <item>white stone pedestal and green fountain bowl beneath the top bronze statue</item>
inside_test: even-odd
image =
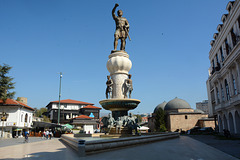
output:
[[[112,51],[108,58],[109,60],[107,61],[107,69],[113,82],[112,97],[110,99],[101,100],[99,103],[104,109],[112,111],[112,116],[109,115],[107,120],[104,120],[103,123],[104,126],[112,127],[109,131],[109,134],[111,136],[129,136],[131,135],[131,131],[128,130],[128,127],[130,124],[133,125],[133,123],[135,123],[135,120],[131,120],[131,117],[127,120],[124,118],[128,116],[129,110],[135,109],[140,103],[140,100],[138,99],[131,99],[126,97],[126,80],[129,79],[128,72],[132,68],[132,62],[129,59],[129,55],[125,51]],[[125,121],[127,125],[121,125],[123,124],[123,121]],[[116,126],[116,124],[120,124],[121,127],[113,127]]]

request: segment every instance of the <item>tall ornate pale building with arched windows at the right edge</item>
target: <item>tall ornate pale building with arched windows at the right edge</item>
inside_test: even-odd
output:
[[[207,80],[209,114],[218,130],[240,134],[240,1],[230,1],[211,41]]]

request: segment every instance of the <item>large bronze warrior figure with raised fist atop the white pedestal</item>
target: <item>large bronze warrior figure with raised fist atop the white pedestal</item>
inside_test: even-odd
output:
[[[129,37],[129,23],[126,18],[122,17],[123,11],[118,10],[118,16],[115,15],[116,8],[119,5],[116,3],[113,10],[112,10],[112,17],[116,23],[116,31],[114,34],[114,51],[117,50],[117,45],[118,45],[118,40],[121,40],[121,47],[120,50],[125,51],[125,46],[126,46],[126,39]],[[130,37],[129,37],[129,40]]]

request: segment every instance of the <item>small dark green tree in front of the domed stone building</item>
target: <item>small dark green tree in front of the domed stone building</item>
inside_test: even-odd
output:
[[[155,117],[155,129],[158,132],[167,131],[166,123],[165,123],[165,113],[162,108],[159,108]]]

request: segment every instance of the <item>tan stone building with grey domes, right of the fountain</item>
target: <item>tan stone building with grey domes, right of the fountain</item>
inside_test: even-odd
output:
[[[148,127],[151,131],[155,130],[155,118],[157,111],[162,109],[165,112],[165,125],[168,131],[187,131],[195,126],[215,128],[213,118],[209,118],[207,113],[199,109],[192,109],[183,99],[174,98],[171,101],[159,104],[148,118]]]

